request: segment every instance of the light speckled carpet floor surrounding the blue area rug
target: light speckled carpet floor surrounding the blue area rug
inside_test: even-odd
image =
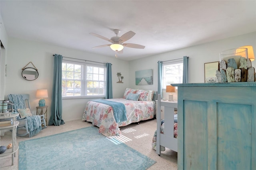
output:
[[[62,132],[67,132],[70,130],[76,130],[85,127],[91,127],[92,124],[88,122],[83,122],[81,120],[65,122],[64,125],[60,126],[48,126],[36,136],[29,138],[28,135],[24,137],[17,137],[17,144],[21,141],[40,138],[44,136],[49,136],[52,134],[58,134]],[[132,130],[134,129],[134,130]],[[137,150],[138,152],[148,156],[149,158],[156,161],[156,163],[148,170],[177,170],[177,152],[169,150],[161,152],[161,156],[156,154],[156,150],[151,147],[152,137],[156,130],[156,119],[150,121],[141,122],[140,125],[132,124],[126,127],[121,127],[122,137],[129,138],[129,140],[123,141],[124,144],[130,146],[131,148]],[[1,132],[1,135],[3,133]],[[12,133],[10,131],[5,132],[4,136],[0,138],[0,145],[7,146],[12,140]],[[45,146],[45,145],[43,145]],[[0,158],[0,169],[1,170],[18,170],[18,156],[19,152],[16,152],[16,157],[14,157],[14,165],[12,166],[11,156],[5,156]]]

